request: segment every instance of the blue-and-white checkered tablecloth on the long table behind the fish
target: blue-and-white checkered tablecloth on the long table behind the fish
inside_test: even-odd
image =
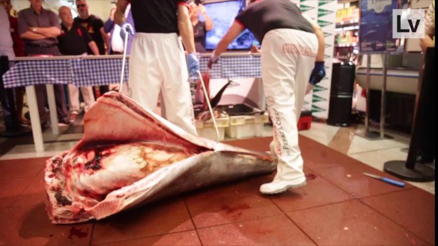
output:
[[[20,61],[3,75],[3,83],[7,88],[48,83],[73,83],[76,86],[118,83],[121,62],[121,58]],[[209,57],[200,57],[201,72],[208,71],[208,62]],[[125,82],[128,80],[128,67],[127,61]],[[222,56],[210,71],[211,79],[260,76],[260,56]]]

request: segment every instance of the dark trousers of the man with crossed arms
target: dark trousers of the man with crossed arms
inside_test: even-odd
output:
[[[35,55],[53,55],[59,56],[61,53],[57,46],[51,48],[40,47],[28,47],[26,46],[26,53],[28,56]],[[68,110],[64,99],[64,85],[54,84],[53,89],[55,91],[56,101],[56,113],[59,121],[68,122]],[[45,84],[35,85],[36,100],[38,103],[38,112],[41,124],[44,125],[49,120],[49,115],[46,112],[45,106],[47,104],[47,91]]]

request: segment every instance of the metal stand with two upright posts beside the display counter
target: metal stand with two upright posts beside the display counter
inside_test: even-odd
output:
[[[371,54],[367,54],[366,59],[366,112],[365,112],[365,130],[363,132],[356,132],[355,135],[365,138],[367,140],[381,140],[392,139],[393,137],[385,134],[385,106],[386,106],[386,77],[387,77],[387,53],[384,53],[383,58],[383,84],[382,84],[382,96],[380,104],[380,132],[369,131],[369,91],[371,87]]]

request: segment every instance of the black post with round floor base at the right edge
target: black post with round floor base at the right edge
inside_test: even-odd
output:
[[[421,127],[423,127],[424,123],[424,114],[425,110],[425,92],[428,89],[427,83],[432,82],[435,83],[435,79],[429,78],[425,80],[425,74],[434,76],[435,70],[435,48],[428,49],[426,53],[426,68],[425,70],[429,70],[429,73],[421,73],[419,84],[418,84],[418,92],[417,92],[417,100],[414,112],[414,122],[412,125],[412,134],[411,134],[411,142],[409,144],[409,153],[408,159],[406,161],[390,161],[384,164],[383,169],[385,172],[388,172],[396,177],[399,177],[404,180],[416,181],[416,182],[429,182],[435,180],[435,170],[432,167],[429,167],[425,164],[418,164],[416,162],[417,159],[417,147],[418,142],[422,136],[419,135]],[[432,63],[432,64],[431,64]],[[430,71],[432,70],[432,71]],[[433,107],[435,111],[435,107]],[[435,112],[434,112],[435,113]],[[435,127],[435,126],[434,126]]]

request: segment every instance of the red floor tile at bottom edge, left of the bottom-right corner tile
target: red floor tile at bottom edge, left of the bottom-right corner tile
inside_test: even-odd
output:
[[[320,246],[428,245],[357,200],[297,211],[288,216]]]

